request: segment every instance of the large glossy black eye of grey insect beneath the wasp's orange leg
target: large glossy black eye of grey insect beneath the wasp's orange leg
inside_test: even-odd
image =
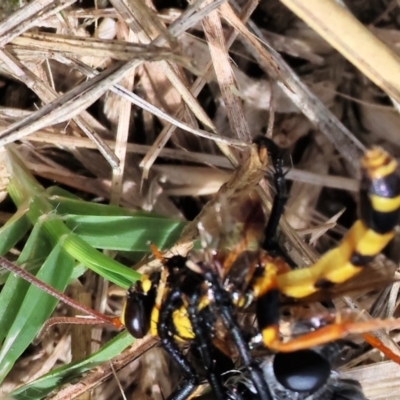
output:
[[[328,380],[331,365],[313,350],[278,353],[274,358],[277,381],[294,392],[316,392]]]

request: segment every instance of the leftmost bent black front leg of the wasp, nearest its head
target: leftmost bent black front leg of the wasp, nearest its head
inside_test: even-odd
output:
[[[176,344],[171,331],[174,331],[173,313],[182,306],[182,291],[179,288],[172,289],[162,304],[157,324],[158,336],[163,348],[170,354],[176,364],[179,365],[185,380],[168,397],[168,400],[186,400],[194,392],[198,385],[198,376],[189,361],[182,354]]]

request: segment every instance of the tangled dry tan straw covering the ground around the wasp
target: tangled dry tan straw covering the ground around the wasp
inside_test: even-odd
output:
[[[199,222],[218,235],[216,208],[254,189],[268,215],[272,167],[251,144],[257,135],[287,149],[289,200],[279,244],[300,267],[338,243],[357,218],[362,152],[379,145],[400,158],[398,2],[0,3],[3,151],[17,149],[44,186],[188,218],[166,257],[192,249]],[[7,171],[0,173],[5,222],[14,209]],[[22,241],[12,257],[21,253]],[[309,312],[323,313],[319,301],[330,296],[340,312],[350,309],[360,320],[398,318],[397,248],[396,242],[355,281],[318,293]],[[128,263],[131,254],[116,256]],[[136,266],[159,264],[150,256]],[[85,292],[96,293],[96,307],[120,310],[122,299],[95,274],[84,284]],[[70,361],[70,333],[60,329],[21,357],[1,395]],[[107,329],[95,335],[98,342],[110,339]],[[398,334],[371,335],[400,356]],[[397,399],[399,366],[366,348],[360,335],[351,339],[360,349],[349,352],[341,376],[359,380],[371,400]],[[130,362],[153,345],[150,338],[138,342],[111,360],[112,367],[99,367],[49,398],[86,393],[128,364],[117,372],[123,392],[162,399],[180,378],[162,351]],[[114,399],[116,393],[110,379],[94,398]]]

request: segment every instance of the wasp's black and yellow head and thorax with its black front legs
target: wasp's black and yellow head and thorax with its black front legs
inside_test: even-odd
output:
[[[201,381],[180,347],[182,342],[188,341],[196,345],[199,350],[207,380],[216,398],[226,399],[226,388],[221,379],[219,363],[215,361],[216,355],[220,352],[213,344],[216,317],[214,307],[209,306],[205,295],[208,292],[207,281],[205,275],[188,268],[186,262],[187,259],[181,256],[165,260],[167,278],[161,303],[157,302],[158,287],[161,285],[160,280],[157,281],[157,278],[160,278],[159,274],[143,277],[137,282],[127,297],[124,323],[134,335],[141,335],[140,337],[147,333],[158,335],[163,348],[181,368],[185,379],[168,397],[169,400],[188,398]],[[219,307],[222,307],[224,315],[235,324],[236,338],[241,345],[240,354],[246,360],[251,360],[249,345],[244,338],[241,338],[242,333],[233,315],[229,294],[223,287],[213,288],[213,301],[218,296],[224,297],[223,304],[221,299],[217,300],[221,303]],[[260,399],[271,399],[261,369],[256,364],[251,366],[253,367],[251,374],[258,376],[256,387],[258,384]]]

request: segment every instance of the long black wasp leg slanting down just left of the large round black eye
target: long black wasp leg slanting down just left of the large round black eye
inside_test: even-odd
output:
[[[219,282],[218,277],[216,277],[212,271],[206,271],[204,273],[204,278],[211,284],[214,296],[213,305],[218,310],[218,315],[221,317],[225,328],[231,334],[240,357],[245,367],[250,372],[251,379],[257,389],[260,400],[272,400],[272,395],[265,382],[263,373],[259,365],[253,360],[250,354],[249,344],[243,337],[242,330],[233,315],[230,294],[226,292]]]

